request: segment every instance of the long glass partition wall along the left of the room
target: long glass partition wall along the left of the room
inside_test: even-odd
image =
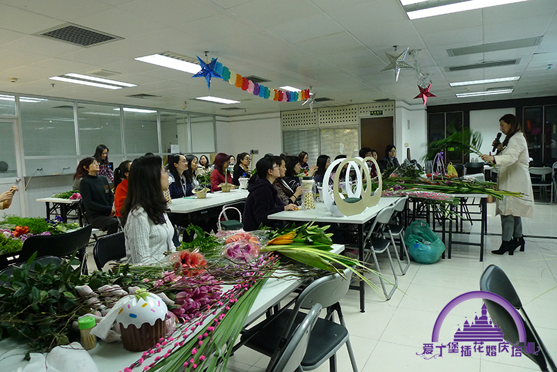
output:
[[[216,148],[210,115],[0,95],[0,116],[19,116],[24,176],[73,174],[100,144],[109,148],[115,167],[145,153],[208,154]]]

